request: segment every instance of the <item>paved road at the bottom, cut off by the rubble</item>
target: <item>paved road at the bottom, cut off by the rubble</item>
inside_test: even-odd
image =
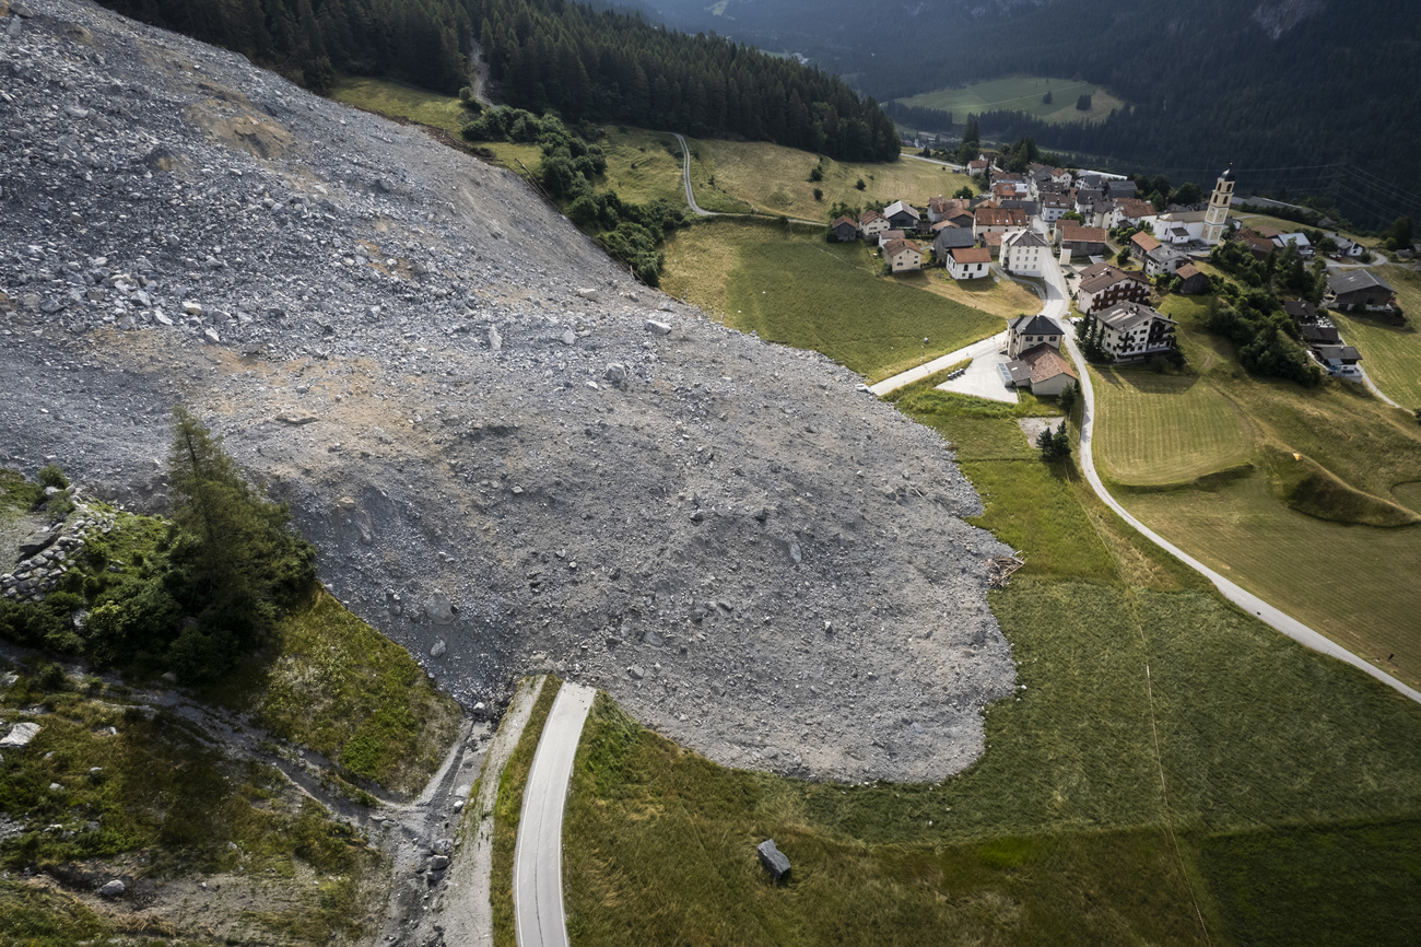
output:
[[[543,728],[523,789],[513,850],[513,919],[519,947],[567,947],[563,911],[563,806],[573,756],[597,691],[563,684]]]

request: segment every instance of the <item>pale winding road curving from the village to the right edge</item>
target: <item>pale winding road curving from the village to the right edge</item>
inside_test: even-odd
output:
[[[1049,260],[1047,263],[1047,287],[1049,287],[1047,296],[1050,296],[1052,299],[1050,301],[1047,301],[1044,311],[1047,316],[1052,316],[1053,319],[1057,319],[1057,321],[1061,321],[1063,328],[1067,328],[1066,347],[1070,350],[1070,354],[1076,358],[1076,364],[1081,367],[1080,385],[1081,385],[1081,392],[1086,395],[1086,404],[1080,425],[1080,466],[1081,471],[1086,474],[1086,481],[1090,483],[1090,488],[1096,491],[1096,496],[1104,501],[1104,503],[1110,506],[1110,509],[1115,510],[1115,513],[1118,513],[1121,519],[1124,519],[1127,523],[1140,530],[1140,533],[1145,539],[1155,543],[1157,546],[1168,552],[1171,556],[1174,556],[1175,559],[1185,563],[1195,572],[1201,573],[1205,579],[1212,582],[1214,587],[1218,589],[1223,594],[1223,597],[1232,601],[1233,604],[1239,606],[1249,614],[1260,619],[1273,628],[1282,631],[1295,641],[1299,641],[1314,651],[1322,651],[1323,654],[1334,657],[1339,661],[1346,661],[1347,664],[1351,664],[1353,667],[1366,671],[1367,674],[1377,678],[1387,687],[1391,687],[1393,690],[1397,690],[1401,694],[1405,694],[1411,700],[1421,704],[1421,691],[1407,687],[1405,684],[1391,677],[1381,668],[1374,667],[1370,663],[1361,660],[1360,657],[1357,657],[1347,648],[1341,647],[1331,638],[1312,630],[1310,627],[1307,627],[1297,619],[1292,617],[1282,609],[1270,606],[1269,603],[1255,596],[1252,592],[1246,592],[1236,583],[1229,582],[1228,579],[1214,572],[1194,556],[1188,555],[1174,543],[1168,542],[1167,539],[1155,533],[1152,529],[1150,529],[1138,519],[1131,516],[1124,506],[1115,502],[1115,498],[1110,495],[1110,492],[1106,489],[1106,485],[1100,481],[1100,474],[1096,472],[1096,458],[1091,452],[1091,431],[1096,424],[1096,392],[1090,382],[1090,373],[1084,370],[1086,358],[1081,354],[1080,347],[1076,344],[1076,338],[1070,333],[1069,326],[1064,323],[1066,283],[1064,279],[1061,277],[1060,264],[1056,260]]]

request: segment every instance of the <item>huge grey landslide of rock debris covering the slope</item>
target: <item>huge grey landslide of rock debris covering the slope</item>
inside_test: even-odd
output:
[[[737,766],[980,754],[1009,550],[938,435],[415,128],[90,3],[9,9],[0,465],[162,510],[182,402],[470,710],[557,670]]]

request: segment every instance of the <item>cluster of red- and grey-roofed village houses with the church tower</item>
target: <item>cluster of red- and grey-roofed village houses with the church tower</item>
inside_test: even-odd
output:
[[[1141,199],[1133,181],[1118,175],[1074,176],[1046,165],[1013,173],[999,169],[986,154],[969,162],[968,171],[988,181],[988,193],[971,199],[939,195],[922,210],[898,200],[857,219],[841,216],[830,228],[838,240],[875,243],[894,273],[922,269],[929,246],[956,280],[989,277],[993,263],[1017,276],[1043,276],[1052,259],[1084,263],[1076,273],[1076,307],[1093,320],[1091,341],[1117,361],[1144,360],[1174,348],[1175,320],[1150,306],[1152,279],[1168,274],[1178,279],[1181,293],[1208,291],[1209,277],[1196,260],[1223,239],[1226,229],[1235,229],[1236,239],[1260,257],[1290,245],[1304,257],[1316,253],[1302,232],[1242,228],[1229,220],[1232,169],[1219,175],[1206,203],[1164,212]],[[1067,213],[1074,216],[1066,220]],[[1110,230],[1121,226],[1137,228],[1125,249],[1140,269],[1103,259]],[[1364,253],[1336,239],[1339,256]],[[1329,284],[1326,301],[1333,307],[1401,317],[1394,291],[1370,270],[1334,273]],[[1357,374],[1357,350],[1341,340],[1326,316],[1307,303],[1289,303],[1287,311],[1319,363],[1336,374]],[[1036,394],[1060,394],[1076,381],[1060,353],[1063,338],[1064,330],[1043,316],[1013,320],[1003,382]]]

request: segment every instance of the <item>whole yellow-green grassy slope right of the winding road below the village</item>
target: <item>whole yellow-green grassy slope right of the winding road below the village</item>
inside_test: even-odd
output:
[[[1117,498],[1215,570],[1421,684],[1411,580],[1421,570],[1421,427],[1357,385],[1249,377],[1232,346],[1204,331],[1202,301],[1162,307],[1179,320],[1198,374],[1096,371],[1096,459]],[[1394,341],[1393,364],[1408,364],[1410,336],[1373,331]],[[1168,483],[1178,486],[1160,489]]]

